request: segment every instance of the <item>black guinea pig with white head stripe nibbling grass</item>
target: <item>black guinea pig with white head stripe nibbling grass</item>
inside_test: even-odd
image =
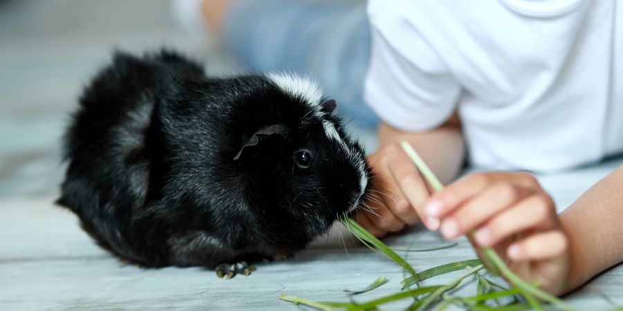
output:
[[[116,52],[73,113],[57,203],[125,261],[249,275],[366,199],[372,172],[335,108],[309,79]]]

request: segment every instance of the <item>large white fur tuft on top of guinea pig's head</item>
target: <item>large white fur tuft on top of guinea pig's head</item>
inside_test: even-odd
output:
[[[266,75],[272,82],[275,82],[283,91],[294,97],[301,97],[314,109],[320,108],[320,100],[323,98],[323,92],[318,84],[310,79],[296,77],[286,73],[269,73]]]

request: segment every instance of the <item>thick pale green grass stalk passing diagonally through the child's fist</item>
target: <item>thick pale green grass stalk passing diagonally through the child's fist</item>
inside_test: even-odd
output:
[[[406,152],[406,154],[411,158],[417,169],[422,173],[422,176],[426,179],[428,184],[433,187],[435,191],[441,191],[444,188],[444,185],[437,179],[433,171],[428,168],[424,160],[419,157],[417,152],[411,147],[411,145],[403,140],[401,143],[402,149]],[[543,301],[547,301],[557,306],[557,308],[561,308],[563,310],[575,310],[568,303],[557,299],[556,297],[548,294],[547,292],[543,292],[543,290],[539,290],[539,288],[534,287],[530,283],[523,281],[519,276],[514,274],[512,270],[504,263],[502,258],[498,256],[498,254],[491,249],[490,247],[482,247],[482,254],[484,254],[485,259],[488,263],[491,264],[496,270],[501,272],[501,274],[511,283],[514,287],[516,287],[522,296],[528,301],[530,307],[536,310],[542,310],[541,305],[538,301],[536,301],[532,296],[536,296],[536,298],[541,299]],[[489,269],[489,271],[491,271]],[[495,271],[494,271],[495,272]]]

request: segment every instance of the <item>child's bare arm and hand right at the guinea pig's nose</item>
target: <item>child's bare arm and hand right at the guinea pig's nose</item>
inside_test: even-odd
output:
[[[464,159],[464,142],[456,115],[437,129],[422,133],[399,131],[382,123],[379,151],[368,157],[374,172],[369,206],[354,216],[374,236],[397,232],[405,224],[417,222],[431,193],[400,147],[401,140],[410,142],[443,182],[456,177]]]

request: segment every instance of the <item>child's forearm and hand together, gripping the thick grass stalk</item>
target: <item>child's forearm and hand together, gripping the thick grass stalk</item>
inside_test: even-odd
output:
[[[475,232],[477,252],[494,247],[523,279],[563,294],[623,261],[621,189],[623,167],[558,216],[529,173],[474,173],[434,194],[424,215],[446,238]]]

